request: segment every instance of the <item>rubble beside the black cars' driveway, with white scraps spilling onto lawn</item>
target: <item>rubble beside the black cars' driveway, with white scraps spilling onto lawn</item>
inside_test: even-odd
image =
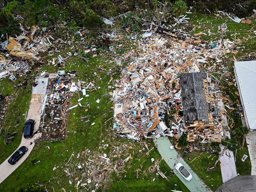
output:
[[[76,71],[58,71],[58,74],[50,74],[47,91],[43,103],[42,113],[43,121],[40,123],[41,140],[64,140],[67,137],[66,127],[69,110],[76,107],[89,107],[86,97],[89,97],[86,90],[93,91],[97,89],[94,82],[73,81]],[[43,72],[41,75],[47,75]],[[70,106],[70,98],[74,93],[78,93],[77,104]],[[80,97],[81,96],[81,97]],[[83,100],[84,99],[84,100]],[[96,101],[97,102],[97,101]],[[88,110],[87,108],[85,109]],[[87,121],[86,121],[87,119]],[[88,116],[81,117],[81,121],[88,122]]]

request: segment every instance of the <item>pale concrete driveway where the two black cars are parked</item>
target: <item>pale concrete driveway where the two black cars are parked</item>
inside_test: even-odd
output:
[[[26,120],[28,119],[34,119],[36,124],[34,127],[34,132],[36,132],[39,129],[40,119],[41,119],[41,108],[43,104],[43,99],[45,97],[46,88],[48,84],[48,78],[38,78],[35,81],[38,83],[38,85],[33,89],[32,91],[32,98],[30,101],[30,106],[28,110],[28,114],[26,117]],[[10,165],[8,163],[8,159],[11,157],[11,155],[0,165],[0,183],[4,181],[13,171],[15,171],[21,164],[24,162],[24,160],[28,157],[30,152],[32,151],[35,143],[34,140],[39,138],[41,136],[40,133],[35,134],[31,139],[24,139],[22,134],[21,144],[17,149],[19,149],[21,146],[28,147],[28,152],[21,157],[21,159],[17,162],[17,164]],[[30,142],[33,142],[32,145],[30,145]],[[17,150],[16,149],[16,150]],[[14,151],[15,152],[15,151]],[[14,153],[13,152],[13,153]]]

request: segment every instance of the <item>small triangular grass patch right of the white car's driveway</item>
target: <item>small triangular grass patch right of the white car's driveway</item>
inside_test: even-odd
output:
[[[214,163],[218,158],[218,155],[211,155],[211,157],[209,157],[210,155],[210,153],[191,153],[185,157],[185,161],[204,183],[215,191],[222,184],[222,177],[220,164],[217,164],[215,168],[207,172],[207,168],[214,167]],[[189,157],[191,160],[188,160]]]

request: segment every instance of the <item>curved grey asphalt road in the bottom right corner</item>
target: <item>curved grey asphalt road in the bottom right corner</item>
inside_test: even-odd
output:
[[[255,192],[256,176],[235,177],[223,183],[215,192]]]

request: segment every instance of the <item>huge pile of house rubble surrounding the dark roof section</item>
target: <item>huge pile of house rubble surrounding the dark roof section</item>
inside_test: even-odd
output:
[[[219,80],[212,74],[217,71],[216,66],[220,66],[222,55],[232,51],[233,43],[228,40],[206,43],[187,35],[180,38],[151,37],[137,43],[139,48],[123,54],[123,59],[133,59],[123,70],[121,78],[116,80],[116,90],[110,93],[114,100],[114,132],[134,140],[148,138],[150,132],[156,138],[167,135],[176,139],[183,132],[188,132],[191,142],[195,139],[220,142],[220,135],[223,135],[222,118],[219,108],[215,106],[221,93],[218,91]],[[207,107],[211,115],[208,120],[211,121],[210,126],[204,119],[195,118],[194,122],[186,123],[183,118],[186,114],[180,75],[199,72],[206,72],[206,78],[199,81],[204,85],[201,86],[205,90],[204,104],[210,105]],[[198,110],[196,103],[192,105]],[[174,120],[168,119],[172,126],[167,127],[163,120],[166,122],[164,116],[170,108],[176,111],[171,114]],[[216,135],[218,140],[215,140]]]

